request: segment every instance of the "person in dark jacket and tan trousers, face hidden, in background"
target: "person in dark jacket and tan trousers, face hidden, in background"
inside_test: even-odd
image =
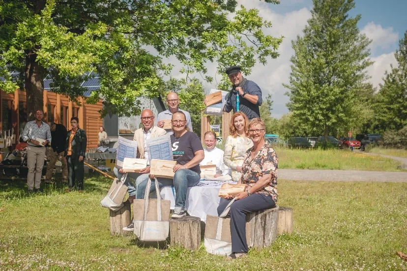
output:
[[[54,138],[51,142],[50,162],[47,164],[47,174],[45,175],[45,183],[51,183],[52,173],[55,163],[59,160],[62,163],[62,182],[66,183],[68,178],[68,166],[63,157],[66,144],[66,128],[62,124],[55,122],[49,123],[51,136]]]

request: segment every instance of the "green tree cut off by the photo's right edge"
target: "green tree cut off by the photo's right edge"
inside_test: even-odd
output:
[[[394,54],[397,67],[386,71],[374,104],[374,129],[383,133],[400,130],[407,125],[407,31]]]

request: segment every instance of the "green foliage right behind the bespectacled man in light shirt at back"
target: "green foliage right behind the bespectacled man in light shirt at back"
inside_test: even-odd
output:
[[[164,100],[170,91],[178,94],[178,107],[191,114],[192,129],[197,135],[201,136],[201,113],[205,108],[205,93],[202,83],[196,78],[193,78],[188,83],[183,79],[171,78],[166,82],[162,82],[158,91]],[[168,108],[165,102],[164,104]]]

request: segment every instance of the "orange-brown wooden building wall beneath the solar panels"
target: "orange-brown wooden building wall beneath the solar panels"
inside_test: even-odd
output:
[[[18,141],[24,126],[27,123],[27,99],[26,92],[16,90],[7,94],[0,90],[0,131],[14,129],[14,134]],[[90,91],[89,91],[90,95]],[[103,126],[103,119],[98,112],[102,109],[102,100],[95,105],[87,104],[86,100],[80,98],[83,103],[79,107],[74,102],[69,101],[66,96],[44,90],[44,121],[54,121],[63,124],[70,130],[70,119],[72,116],[79,118],[79,127],[87,134],[87,149],[97,147],[99,127]]]

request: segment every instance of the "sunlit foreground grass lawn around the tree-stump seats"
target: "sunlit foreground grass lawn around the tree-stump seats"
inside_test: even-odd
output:
[[[407,183],[280,180],[294,233],[235,261],[111,237],[100,206],[109,186],[88,178],[84,193],[29,196],[23,182],[1,181],[0,270],[407,270],[395,254],[407,252]]]

